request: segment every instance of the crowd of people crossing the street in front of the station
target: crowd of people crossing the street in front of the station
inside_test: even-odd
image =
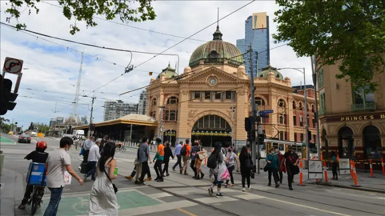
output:
[[[33,162],[45,163],[47,186],[51,191],[51,197],[44,216],[57,214],[65,186],[66,172],[77,179],[81,185],[89,176],[94,181],[90,191],[88,215],[118,215],[118,202],[116,198],[118,188],[112,182],[117,177],[116,159],[114,158],[117,145],[114,142],[108,142],[107,136],[104,136],[103,139],[99,138],[95,142],[93,139],[94,137],[90,136],[82,145],[80,154],[83,155],[83,161],[79,166],[80,172],[83,173],[82,177],[73,170],[71,158],[67,153],[73,144],[73,140],[70,137],[63,137],[60,140],[60,147],[49,154],[44,152],[47,148],[47,143],[39,141],[36,150],[25,157],[26,159],[32,159]],[[152,180],[149,164],[154,162],[153,167],[156,173],[154,180],[162,182],[165,177],[169,176],[168,166],[170,157],[172,159],[176,157],[176,163],[173,164],[172,170],[175,171],[175,168],[178,166],[180,174],[188,175],[187,167],[188,163],[190,163],[190,168],[194,172],[193,178],[197,180],[204,178],[205,173],[201,166],[204,160],[207,161],[207,167],[210,168],[209,178],[212,182],[208,192],[212,196],[214,195],[215,186],[217,186],[215,195],[221,197],[223,196],[221,192],[222,185],[225,187],[235,185],[233,177],[235,168],[241,172],[242,191],[246,191],[246,188],[251,189],[250,178],[254,176],[255,169],[253,168],[252,156],[246,145],[242,147],[238,156],[231,146],[224,148],[220,142],[215,143],[210,155],[208,155],[207,150],[203,147],[201,140],[195,140],[193,145],[190,145],[189,139],[186,139],[184,143],[180,141],[175,146],[173,152],[168,141],[162,143],[160,138],[156,138],[155,143],[156,154],[151,160],[148,138],[146,136],[142,137],[141,143],[137,146],[134,170],[131,175],[125,176],[125,178],[135,180],[136,184],[148,185],[146,181]],[[287,172],[289,189],[292,190],[293,176],[299,172],[297,166],[299,157],[292,148],[289,146],[285,154],[281,154],[274,147],[271,148],[266,156],[266,162],[264,171],[268,172],[268,185],[271,185],[271,177],[273,175],[275,187],[279,187],[279,183],[283,181],[283,172]],[[19,205],[21,209],[25,208],[33,191],[31,186],[27,185],[24,199]]]

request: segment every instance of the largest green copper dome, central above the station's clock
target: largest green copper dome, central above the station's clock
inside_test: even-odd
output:
[[[198,46],[191,54],[188,65],[197,66],[201,60],[204,64],[222,64],[225,60],[237,66],[244,64],[241,51],[234,44],[223,41],[222,35],[217,26],[213,40]]]

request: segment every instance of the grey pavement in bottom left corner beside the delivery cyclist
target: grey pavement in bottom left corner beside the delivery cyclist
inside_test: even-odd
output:
[[[18,215],[17,205],[24,196],[23,175],[3,167],[0,179],[0,215]]]

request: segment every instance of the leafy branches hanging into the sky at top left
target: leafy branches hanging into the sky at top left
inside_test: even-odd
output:
[[[103,17],[107,20],[112,20],[119,16],[120,20],[124,22],[140,22],[147,19],[155,19],[155,12],[151,5],[152,0],[57,0],[59,6],[63,8],[63,15],[68,19],[74,18],[75,23],[70,25],[70,33],[75,34],[80,31],[76,25],[79,21],[84,21],[87,27],[96,26],[95,21],[97,17]],[[37,3],[40,0],[10,0],[5,10],[7,14],[7,21],[12,18],[16,20],[22,15],[23,11],[28,9],[28,14],[31,10],[39,13]],[[48,1],[50,3],[50,1]],[[52,1],[55,3],[55,1]],[[137,5],[135,5],[137,4]],[[22,10],[22,8],[24,8]],[[26,28],[25,23],[16,25],[18,29]]]

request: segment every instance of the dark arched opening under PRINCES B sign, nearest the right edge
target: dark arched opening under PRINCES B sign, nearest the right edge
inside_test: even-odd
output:
[[[381,159],[381,138],[378,128],[368,125],[363,128],[362,135],[365,159]]]

